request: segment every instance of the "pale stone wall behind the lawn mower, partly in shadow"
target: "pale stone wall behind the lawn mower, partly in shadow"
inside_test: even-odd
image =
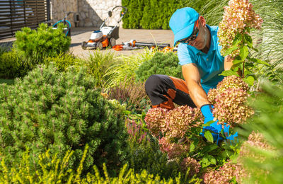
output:
[[[63,11],[75,11],[79,14],[79,27],[100,27],[103,20],[108,17],[108,11],[121,5],[122,0],[52,0],[52,19],[58,21],[64,17]],[[114,11],[107,25],[116,25],[120,18],[120,8]],[[74,16],[68,17],[74,27]],[[120,23],[122,26],[122,22]]]

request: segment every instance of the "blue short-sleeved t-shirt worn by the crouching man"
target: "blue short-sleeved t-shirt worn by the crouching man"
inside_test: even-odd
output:
[[[221,56],[219,46],[219,38],[217,38],[217,26],[209,26],[211,43],[209,52],[197,50],[195,47],[180,43],[178,46],[179,64],[195,63],[200,71],[202,88],[207,93],[210,88],[216,88],[219,81],[224,79],[224,76],[219,76],[224,71],[224,57]]]

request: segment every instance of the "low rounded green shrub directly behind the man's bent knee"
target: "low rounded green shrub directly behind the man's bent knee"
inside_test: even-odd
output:
[[[145,81],[153,74],[163,74],[183,79],[182,69],[178,62],[178,57],[173,52],[156,52],[154,57],[141,64],[137,69],[137,79]]]

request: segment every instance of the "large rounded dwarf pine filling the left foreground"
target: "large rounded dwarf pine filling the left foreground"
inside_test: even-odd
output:
[[[47,149],[62,159],[74,150],[69,167],[79,165],[88,144],[84,171],[105,162],[110,171],[127,157],[124,108],[101,96],[96,81],[86,74],[40,66],[15,84],[0,86],[0,151],[7,163],[19,161],[25,149],[37,163]]]

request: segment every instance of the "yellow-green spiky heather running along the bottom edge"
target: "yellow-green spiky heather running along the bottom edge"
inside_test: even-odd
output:
[[[154,176],[147,173],[145,170],[141,173],[134,173],[133,169],[129,169],[125,164],[117,177],[110,178],[103,164],[103,174],[100,176],[98,168],[93,166],[93,173],[87,173],[86,176],[81,176],[83,170],[83,162],[86,159],[88,145],[85,146],[83,156],[79,167],[76,171],[67,169],[67,165],[74,151],[67,151],[64,159],[58,159],[57,155],[50,154],[46,151],[40,154],[40,167],[33,171],[32,162],[30,162],[30,152],[27,150],[23,154],[21,163],[13,163],[11,168],[8,168],[5,163],[5,158],[1,158],[0,166],[0,183],[183,183],[181,175],[169,180],[161,179],[159,176]],[[1,155],[1,153],[0,153]],[[192,178],[188,183],[200,183],[200,179]]]

